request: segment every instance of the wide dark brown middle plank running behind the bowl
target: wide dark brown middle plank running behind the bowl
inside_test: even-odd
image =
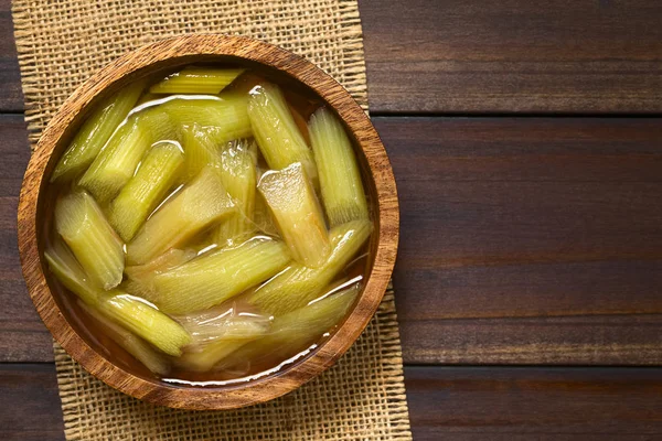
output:
[[[0,359],[51,361],[15,251],[25,135],[2,121]],[[405,361],[662,363],[659,121],[376,118],[402,204]]]

